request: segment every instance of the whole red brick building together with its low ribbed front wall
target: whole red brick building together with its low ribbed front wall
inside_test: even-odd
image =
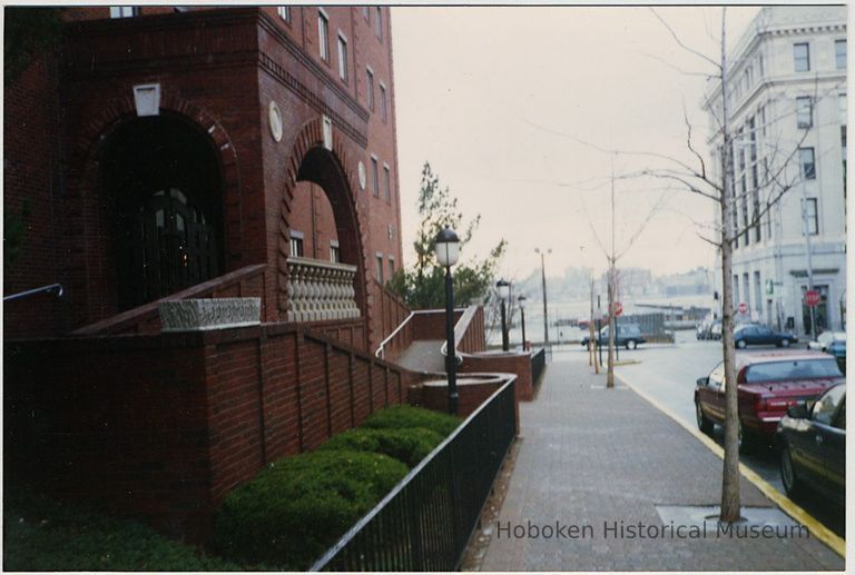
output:
[[[4,296],[63,288],[4,301],[4,480],[202,541],[228,490],[417,380],[374,355],[410,314],[383,287],[401,262],[389,9],[61,13],[3,96],[24,229]],[[217,297],[259,298],[262,325],[161,333],[159,299]]]

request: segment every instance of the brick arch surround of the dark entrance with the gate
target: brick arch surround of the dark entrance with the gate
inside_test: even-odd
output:
[[[130,90],[128,90],[130,91]],[[183,99],[175,90],[161,92],[160,110],[198,129],[207,138],[220,170],[223,196],[223,246],[227,256],[229,246],[238,249],[240,238],[229,238],[226,222],[228,205],[239,212],[240,178],[235,146],[224,127],[206,110]],[[115,294],[105,291],[110,282],[110,272],[105,269],[97,252],[98,242],[109,238],[110,231],[104,221],[104,190],[100,186],[100,159],[105,143],[111,133],[126,122],[137,118],[132,95],[105,99],[101,112],[80,126],[69,137],[68,147],[68,262],[69,300],[72,308],[72,324],[89,324],[116,313]],[[232,198],[232,202],[228,201]],[[228,257],[224,257],[228,270]]]

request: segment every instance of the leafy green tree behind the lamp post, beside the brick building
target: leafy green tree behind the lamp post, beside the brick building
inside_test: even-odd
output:
[[[448,226],[460,236],[461,256],[465,255],[465,245],[478,229],[481,216],[464,221],[463,214],[458,208],[458,199],[451,195],[448,186],[440,185],[439,176],[433,174],[429,162],[424,162],[419,190],[419,228],[413,241],[415,265],[412,268],[400,268],[390,279],[389,288],[401,296],[411,308],[442,308],[445,305],[445,269],[436,261],[433,240],[436,234]],[[468,304],[488,298],[505,247],[507,242],[502,239],[487,257],[469,257],[454,266],[455,303]]]

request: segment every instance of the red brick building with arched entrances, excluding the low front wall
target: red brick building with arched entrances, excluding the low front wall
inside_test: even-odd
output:
[[[254,295],[263,321],[376,345],[402,257],[389,9],[63,16],[4,93],[4,208],[28,214],[3,288],[65,296],[7,303],[4,335],[154,331],[158,298]]]

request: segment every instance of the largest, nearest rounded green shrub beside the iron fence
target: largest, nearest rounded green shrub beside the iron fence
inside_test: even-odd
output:
[[[278,459],[226,496],[209,546],[233,561],[305,571],[406,473],[401,462],[365,452]]]

